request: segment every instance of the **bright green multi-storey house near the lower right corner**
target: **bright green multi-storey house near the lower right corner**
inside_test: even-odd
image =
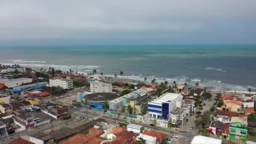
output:
[[[247,138],[247,119],[243,117],[232,117],[229,126],[230,139]]]

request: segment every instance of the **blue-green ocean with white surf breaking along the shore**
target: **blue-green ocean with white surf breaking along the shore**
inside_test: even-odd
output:
[[[0,46],[0,64],[256,91],[256,45]]]

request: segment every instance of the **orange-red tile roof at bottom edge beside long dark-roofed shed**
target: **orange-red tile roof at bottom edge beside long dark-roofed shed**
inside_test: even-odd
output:
[[[89,131],[90,133],[87,133],[87,134],[79,133],[75,136],[72,136],[68,140],[62,141],[60,144],[84,144],[85,142],[88,142],[92,138],[104,133],[103,130],[96,129],[96,128],[90,128]]]

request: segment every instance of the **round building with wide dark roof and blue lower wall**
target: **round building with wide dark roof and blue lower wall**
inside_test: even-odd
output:
[[[87,104],[90,105],[90,107],[97,108],[97,109],[104,108],[104,104],[108,104],[109,101],[117,98],[118,98],[118,95],[115,93],[91,93],[91,94],[85,95]]]

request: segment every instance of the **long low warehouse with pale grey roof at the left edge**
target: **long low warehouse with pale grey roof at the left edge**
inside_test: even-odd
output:
[[[26,83],[32,83],[32,79],[22,77],[22,78],[16,78],[12,80],[0,80],[0,88],[3,88],[3,86],[7,86],[8,88],[13,88]]]

